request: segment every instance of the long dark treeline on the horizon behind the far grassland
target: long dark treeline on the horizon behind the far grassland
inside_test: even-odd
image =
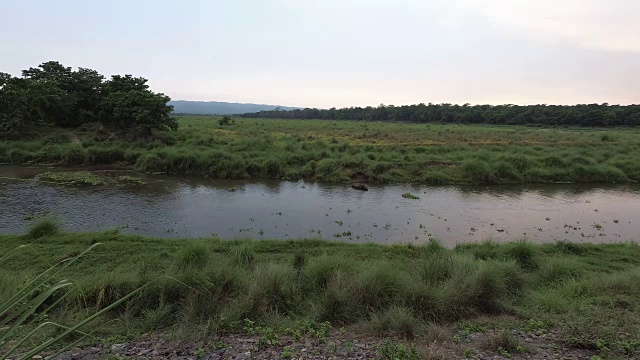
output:
[[[271,110],[241,115],[247,118],[396,121],[447,124],[540,126],[638,126],[640,105],[452,105],[350,107],[328,110]]]

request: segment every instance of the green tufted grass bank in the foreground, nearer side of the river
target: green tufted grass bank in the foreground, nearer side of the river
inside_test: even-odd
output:
[[[0,257],[57,232],[42,226],[30,235],[0,236]],[[96,242],[101,245],[60,274],[77,286],[50,313],[52,321],[71,323],[151,281],[109,315],[112,321],[92,326],[119,335],[171,329],[191,339],[253,331],[268,341],[278,334],[321,336],[327,327],[419,338],[431,326],[459,324],[459,340],[489,323],[538,334],[557,329],[567,345],[601,356],[640,354],[637,244],[520,241],[446,249],[437,242],[383,246],[62,233],[0,264],[0,302],[25,279]],[[491,320],[504,316],[509,320]]]

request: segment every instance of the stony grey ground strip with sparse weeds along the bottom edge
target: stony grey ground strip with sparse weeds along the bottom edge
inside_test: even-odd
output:
[[[356,336],[334,330],[326,339],[228,335],[206,342],[184,343],[166,335],[145,336],[135,341],[104,343],[72,349],[58,359],[590,359],[594,351],[572,349],[558,334],[511,332],[516,348],[501,343],[503,334],[493,331],[450,336],[446,329],[412,342],[399,338]],[[515,344],[512,344],[515,346]],[[505,348],[507,347],[507,348]]]

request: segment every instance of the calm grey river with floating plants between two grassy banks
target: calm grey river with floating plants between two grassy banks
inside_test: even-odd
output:
[[[65,230],[159,237],[318,238],[447,245],[526,236],[535,242],[640,238],[640,186],[371,186],[139,176],[144,185],[69,186],[34,181],[62,169],[0,166],[0,233],[22,233],[50,213]],[[230,191],[240,187],[241,190]],[[418,200],[402,198],[410,192]]]

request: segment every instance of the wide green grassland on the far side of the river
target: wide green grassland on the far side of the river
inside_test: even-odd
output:
[[[640,180],[640,130],[181,117],[153,141],[53,131],[0,141],[0,163],[128,164],[214,178],[535,183]]]

